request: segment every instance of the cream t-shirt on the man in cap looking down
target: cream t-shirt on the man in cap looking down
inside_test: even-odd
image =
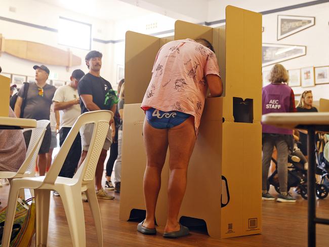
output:
[[[73,89],[69,85],[64,85],[59,87],[54,95],[53,101],[56,102],[68,102],[71,100],[78,99],[79,95],[77,89]],[[80,105],[73,105],[69,108],[59,111],[60,114],[60,124],[59,128],[72,127],[76,118],[81,114]]]

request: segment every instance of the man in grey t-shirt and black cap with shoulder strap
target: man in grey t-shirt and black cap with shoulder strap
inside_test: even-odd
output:
[[[35,83],[30,83],[27,91],[25,108],[23,118],[30,118],[36,120],[47,119],[50,116],[50,106],[56,91],[54,86],[46,83],[49,76],[49,69],[45,65],[34,65],[35,69]],[[21,114],[21,105],[23,103],[24,85],[18,91],[18,97],[15,104],[15,114],[17,117]],[[31,138],[31,132],[24,132],[24,139],[26,147],[28,147]],[[44,176],[46,172],[47,156],[51,142],[51,130],[48,125],[43,142],[40,146],[37,167],[40,176]]]

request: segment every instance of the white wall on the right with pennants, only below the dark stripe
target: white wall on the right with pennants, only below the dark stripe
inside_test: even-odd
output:
[[[314,16],[315,25],[291,36],[276,40],[277,15]],[[329,3],[299,8],[263,16],[263,43],[306,46],[306,56],[283,61],[286,69],[311,66],[329,66]],[[270,70],[271,65],[263,68]],[[313,98],[329,98],[329,84],[316,85],[309,88],[293,87],[295,94],[304,90],[312,90]],[[299,97],[297,97],[299,98]]]

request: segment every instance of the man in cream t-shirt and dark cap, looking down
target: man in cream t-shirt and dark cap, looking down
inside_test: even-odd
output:
[[[81,77],[85,75],[81,69],[76,69],[70,77],[70,84],[57,89],[53,102],[54,109],[59,110],[59,145],[62,146],[70,132],[76,118],[81,114],[80,99],[77,93],[77,85]],[[81,137],[78,133],[64,161],[60,177],[72,178],[81,155]],[[54,195],[57,195],[54,193]]]

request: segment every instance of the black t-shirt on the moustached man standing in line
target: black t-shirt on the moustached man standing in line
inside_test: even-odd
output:
[[[112,89],[111,84],[102,77],[97,77],[91,73],[87,73],[79,81],[77,91],[81,94],[89,94],[93,96],[93,102],[101,110],[110,110],[110,107],[104,105],[105,95],[108,90]],[[81,114],[88,112],[84,102],[80,100]]]

